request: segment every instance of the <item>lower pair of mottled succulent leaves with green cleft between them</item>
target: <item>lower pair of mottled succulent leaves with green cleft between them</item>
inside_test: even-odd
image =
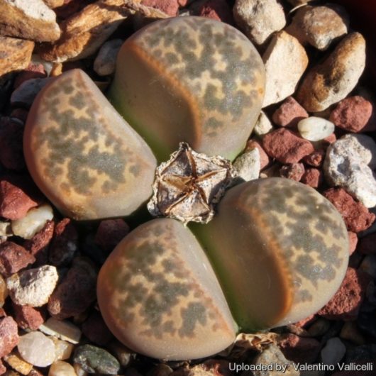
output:
[[[238,330],[314,314],[348,264],[341,215],[314,189],[289,179],[231,188],[214,219],[194,233],[173,219],[144,223],[102,267],[101,313],[130,348],[169,360],[213,355]]]

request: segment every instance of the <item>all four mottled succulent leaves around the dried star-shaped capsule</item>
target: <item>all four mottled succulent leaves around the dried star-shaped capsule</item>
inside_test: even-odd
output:
[[[109,90],[132,127],[87,74],[65,72],[31,108],[28,169],[67,216],[128,216],[151,196],[157,160],[180,142],[233,160],[264,85],[258,52],[231,26],[155,22],[126,40]],[[347,259],[341,216],[314,189],[287,179],[243,183],[204,226],[155,219],[126,236],[99,274],[99,306],[134,350],[201,358],[230,345],[238,328],[314,313],[338,289]]]

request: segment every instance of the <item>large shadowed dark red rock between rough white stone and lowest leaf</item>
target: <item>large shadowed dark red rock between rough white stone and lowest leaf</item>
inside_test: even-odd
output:
[[[96,270],[86,258],[75,258],[64,280],[48,301],[48,311],[57,320],[81,314],[96,299]]]

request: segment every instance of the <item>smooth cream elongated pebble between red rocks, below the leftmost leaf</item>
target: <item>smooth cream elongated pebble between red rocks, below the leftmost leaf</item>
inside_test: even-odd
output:
[[[12,221],[13,233],[24,239],[31,239],[35,233],[42,230],[45,223],[52,218],[52,207],[48,204],[30,209],[26,216],[21,219],[16,219],[16,221]]]

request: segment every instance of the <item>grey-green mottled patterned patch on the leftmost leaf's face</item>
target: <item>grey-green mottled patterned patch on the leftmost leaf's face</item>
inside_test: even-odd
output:
[[[60,96],[69,96],[66,106],[62,106]],[[101,175],[106,176],[101,185],[106,193],[125,182],[126,167],[137,175],[137,166],[129,165],[130,153],[122,140],[104,129],[106,119],[99,116],[82,77],[60,79],[45,97],[43,111],[51,121],[38,138],[40,147],[45,144],[48,150],[43,159],[44,174],[53,180],[66,169],[62,189],[90,194]],[[106,149],[100,146],[101,142]]]

